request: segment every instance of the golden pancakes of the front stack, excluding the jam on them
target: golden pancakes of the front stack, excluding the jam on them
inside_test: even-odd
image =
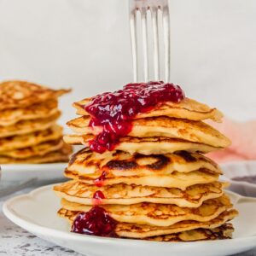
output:
[[[216,108],[185,98],[166,102],[132,120],[127,137],[103,154],[89,148],[102,127],[90,127],[85,99],[74,103],[79,118],[67,123],[76,132],[66,143],[83,144],[73,154],[65,176],[55,186],[58,212],[71,224],[97,205],[117,224],[119,237],[152,241],[201,241],[230,238],[237,211],[218,181],[219,166],[204,154],[225,148],[230,140],[204,119],[220,121]],[[100,192],[99,192],[100,191]],[[97,197],[95,195],[103,195]]]

